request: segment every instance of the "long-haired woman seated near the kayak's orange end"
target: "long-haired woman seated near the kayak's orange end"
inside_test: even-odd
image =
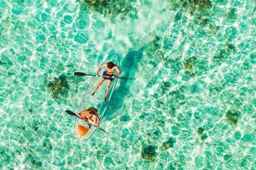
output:
[[[96,126],[98,128],[99,125],[99,117],[97,115],[97,109],[95,107],[89,107],[86,110],[83,110],[82,112],[78,113],[80,117],[83,119],[83,121],[88,122],[89,128],[92,127],[92,125]]]

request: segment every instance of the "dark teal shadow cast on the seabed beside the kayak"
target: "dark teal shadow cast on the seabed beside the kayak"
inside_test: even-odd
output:
[[[138,69],[137,63],[142,59],[143,49],[137,51],[129,51],[129,53],[121,60],[121,77],[123,78],[135,78],[134,73]],[[130,71],[131,70],[131,71]],[[120,85],[114,91],[112,99],[109,104],[109,109],[105,118],[112,119],[118,109],[122,107],[122,104],[126,96],[130,92],[130,85],[134,83],[134,79],[119,79]]]

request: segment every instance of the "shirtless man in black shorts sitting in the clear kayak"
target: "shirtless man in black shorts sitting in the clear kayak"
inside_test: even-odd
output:
[[[96,93],[96,90],[98,89],[98,87],[103,83],[103,81],[105,79],[108,79],[108,83],[107,83],[107,89],[106,89],[106,93],[105,93],[105,96],[104,96],[104,101],[106,101],[107,99],[107,96],[108,96],[108,93],[109,93],[109,87],[110,87],[110,84],[111,84],[111,81],[113,79],[115,79],[116,77],[118,77],[120,74],[121,74],[121,70],[120,68],[115,65],[114,63],[112,62],[108,62],[108,63],[104,63],[103,65],[97,67],[97,70],[96,70],[96,76],[98,76],[98,73],[99,71],[101,70],[101,68],[103,67],[106,67],[106,70],[103,72],[103,75],[101,77],[101,79],[99,79],[98,83],[96,84],[96,88],[95,90],[93,91],[92,95],[94,95]],[[114,72],[117,71],[117,74],[114,75]]]

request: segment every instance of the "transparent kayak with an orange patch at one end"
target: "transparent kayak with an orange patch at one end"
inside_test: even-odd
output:
[[[120,60],[119,60],[118,55],[109,55],[103,63],[106,63],[106,62],[113,62],[118,67],[120,67]],[[105,68],[100,70],[99,75],[102,75],[104,71],[105,71]],[[96,91],[95,95],[91,95],[91,93],[94,91],[94,89],[96,87],[97,82],[99,81],[99,79],[101,79],[101,77],[93,76],[90,78],[91,78],[91,81],[89,82],[87,90],[83,94],[83,99],[82,99],[82,102],[79,107],[79,112],[81,112],[89,107],[96,107],[96,109],[98,110],[99,127],[100,127],[100,123],[109,108],[109,103],[110,103],[111,97],[113,95],[113,92],[115,91],[118,79],[112,80],[112,82],[110,84],[110,88],[109,88],[108,97],[107,97],[106,101],[104,101],[107,80],[105,80],[101,84],[101,86]],[[88,126],[88,124],[86,124],[86,122],[84,122],[80,118],[76,118],[75,126],[74,126],[74,134],[80,140],[90,139],[96,132],[96,129],[97,128],[94,126],[89,128],[89,126]]]

